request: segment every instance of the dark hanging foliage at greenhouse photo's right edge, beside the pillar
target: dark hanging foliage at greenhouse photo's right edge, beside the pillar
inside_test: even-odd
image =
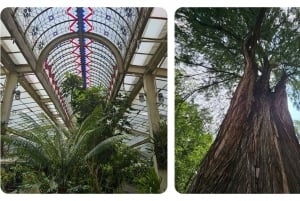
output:
[[[158,132],[153,133],[154,153],[159,169],[167,169],[168,164],[168,125],[166,121],[160,122]]]

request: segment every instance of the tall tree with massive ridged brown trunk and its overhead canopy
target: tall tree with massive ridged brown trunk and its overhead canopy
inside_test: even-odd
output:
[[[300,10],[181,8],[176,20],[176,61],[199,67],[203,78],[185,98],[235,88],[188,191],[299,193],[300,145],[286,85],[299,107]]]

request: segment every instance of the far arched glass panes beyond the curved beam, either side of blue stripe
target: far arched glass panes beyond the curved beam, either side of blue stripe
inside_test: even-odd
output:
[[[86,82],[87,87],[102,85],[109,88],[110,81],[117,67],[117,61],[112,51],[105,45],[86,39]],[[53,76],[60,86],[65,72],[82,75],[80,50],[74,47],[79,44],[79,38],[63,41],[55,46],[44,62],[44,69],[49,77]],[[78,45],[79,46],[79,45]]]

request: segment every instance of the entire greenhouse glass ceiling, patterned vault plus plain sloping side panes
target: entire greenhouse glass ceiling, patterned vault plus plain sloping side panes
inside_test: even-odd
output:
[[[66,123],[68,118],[62,116],[51,97],[53,90],[62,110],[67,115],[72,113],[69,98],[60,90],[66,72],[81,76],[85,87],[102,85],[110,93],[118,90],[132,96],[132,107],[136,110],[125,115],[129,117],[133,131],[143,135],[134,138],[131,144],[143,141],[149,135],[148,108],[146,101],[140,100],[140,94],[145,93],[143,75],[146,72],[155,75],[159,114],[161,118],[167,118],[167,15],[163,9],[147,8],[151,12],[144,19],[144,25],[140,25],[141,30],[138,22],[143,18],[143,8],[10,9],[34,60],[45,59],[41,62],[42,75],[37,75],[27,62],[32,58],[23,54],[24,47],[14,40],[15,36],[7,28],[10,25],[2,22],[7,19],[1,16],[1,50],[3,48],[14,63],[14,71],[25,67],[31,69],[20,74],[21,99],[13,100],[9,127],[26,129],[28,118],[42,124],[42,113],[54,122]],[[9,71],[2,59],[1,55],[1,91],[5,89]],[[120,74],[120,69],[125,72]],[[44,82],[44,78],[48,81]],[[114,89],[117,82],[120,85]]]

